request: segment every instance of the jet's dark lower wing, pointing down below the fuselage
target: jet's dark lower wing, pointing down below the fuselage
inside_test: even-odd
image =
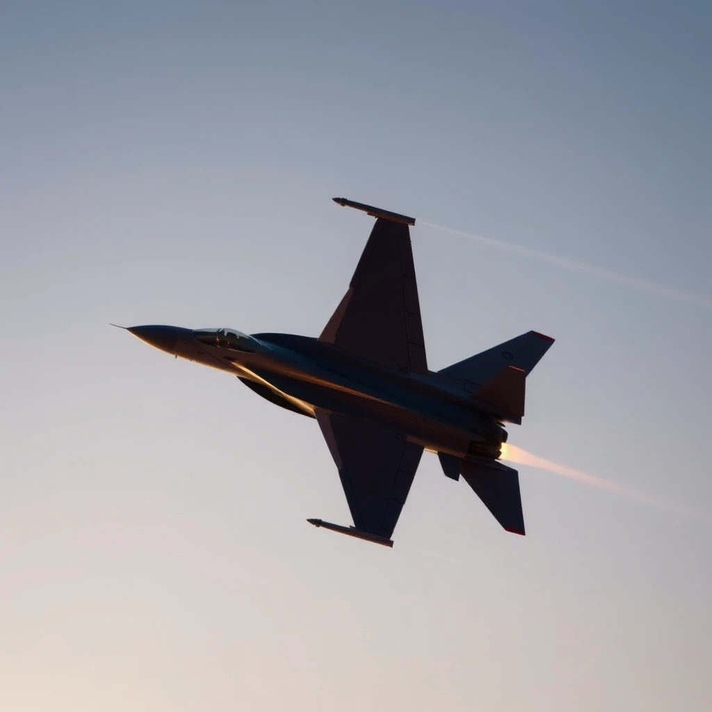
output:
[[[423,449],[392,429],[317,411],[357,530],[390,539]]]

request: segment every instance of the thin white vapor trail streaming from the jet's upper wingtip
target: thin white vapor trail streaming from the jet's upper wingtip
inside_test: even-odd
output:
[[[712,296],[704,294],[693,294],[691,292],[686,292],[684,290],[676,289],[674,287],[668,287],[664,284],[659,284],[657,282],[642,277],[637,277],[631,274],[624,274],[622,272],[614,272],[604,267],[598,267],[596,265],[592,265],[587,262],[582,262],[580,260],[575,260],[570,257],[554,255],[550,252],[544,252],[543,250],[536,250],[531,247],[525,247],[524,245],[516,245],[511,242],[496,240],[491,237],[485,237],[483,235],[478,235],[473,232],[456,230],[451,227],[436,225],[435,223],[429,223],[424,220],[420,222],[422,225],[427,225],[429,227],[435,228],[436,230],[449,232],[453,235],[467,237],[471,240],[476,240],[477,242],[483,245],[488,245],[490,247],[497,248],[498,250],[504,250],[513,254],[521,255],[523,257],[529,257],[540,262],[553,264],[557,267],[561,267],[562,269],[567,269],[573,272],[580,272],[582,274],[587,274],[591,277],[597,277],[608,282],[622,284],[627,287],[637,289],[641,292],[653,293],[661,297],[666,297],[668,299],[673,299],[679,302],[697,304],[706,309],[712,309]]]

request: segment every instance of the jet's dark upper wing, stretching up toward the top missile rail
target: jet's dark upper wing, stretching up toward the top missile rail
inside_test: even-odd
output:
[[[407,224],[376,220],[348,291],[319,340],[406,373],[428,372]]]

